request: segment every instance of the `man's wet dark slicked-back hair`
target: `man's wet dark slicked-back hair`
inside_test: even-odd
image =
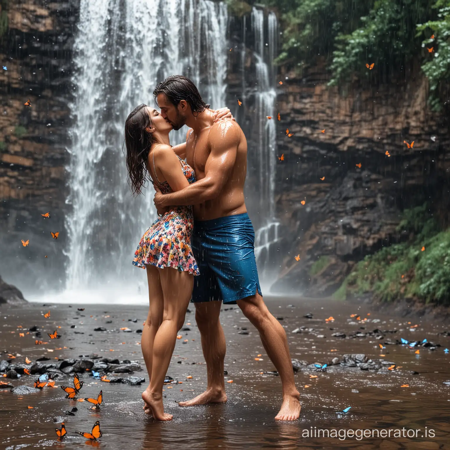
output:
[[[175,106],[178,106],[181,100],[186,100],[194,116],[210,106],[203,101],[196,85],[183,75],[168,76],[156,86],[153,91],[156,104],[158,104],[158,94],[165,94],[167,99]]]

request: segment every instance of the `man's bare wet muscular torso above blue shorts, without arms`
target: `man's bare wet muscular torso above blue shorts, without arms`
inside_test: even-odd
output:
[[[192,131],[186,141],[186,162],[194,169],[197,180],[205,177],[205,165],[211,151],[208,145],[210,129],[204,128],[198,135]],[[211,220],[247,212],[243,190],[247,174],[247,139],[243,131],[239,130],[241,136],[231,174],[218,197],[194,205],[196,220]]]

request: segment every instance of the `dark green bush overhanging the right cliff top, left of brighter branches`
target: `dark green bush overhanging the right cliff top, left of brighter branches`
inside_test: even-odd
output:
[[[417,21],[431,14],[429,0],[377,0],[361,17],[362,27],[337,36],[329,84],[398,71],[421,48]],[[374,72],[367,70],[366,63],[375,63]]]

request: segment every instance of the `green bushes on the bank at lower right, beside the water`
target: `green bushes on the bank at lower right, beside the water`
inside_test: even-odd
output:
[[[410,241],[366,256],[334,297],[370,292],[384,302],[418,298],[450,304],[450,229],[439,232],[426,211],[426,205],[405,210],[398,229],[412,233]]]

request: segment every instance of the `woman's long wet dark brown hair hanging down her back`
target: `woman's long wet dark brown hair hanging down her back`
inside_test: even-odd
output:
[[[130,112],[125,121],[126,168],[127,182],[133,196],[142,193],[148,180],[153,184],[147,169],[147,158],[150,147],[154,143],[153,134],[148,131],[153,122],[142,103]]]

